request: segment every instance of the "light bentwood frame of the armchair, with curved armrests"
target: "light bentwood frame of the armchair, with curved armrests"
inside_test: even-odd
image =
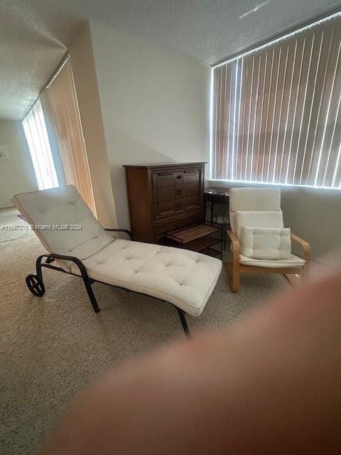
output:
[[[310,245],[305,240],[301,239],[295,234],[291,234],[291,240],[301,245],[302,257],[305,260],[303,267],[258,267],[251,265],[244,265],[239,263],[240,245],[237,235],[232,230],[227,231],[227,235],[231,240],[232,245],[232,262],[225,262],[227,276],[229,277],[229,286],[232,292],[239,291],[239,276],[241,273],[277,273],[283,274],[288,281],[295,286],[302,279],[308,277],[309,261],[310,261]]]

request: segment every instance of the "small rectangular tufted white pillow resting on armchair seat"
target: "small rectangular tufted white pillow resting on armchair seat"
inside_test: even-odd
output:
[[[290,228],[242,227],[242,255],[255,259],[289,259]]]

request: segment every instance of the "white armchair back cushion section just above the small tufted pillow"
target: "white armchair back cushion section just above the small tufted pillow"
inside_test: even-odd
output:
[[[282,210],[238,210],[236,212],[235,232],[239,240],[241,240],[243,226],[249,226],[249,228],[284,228]]]

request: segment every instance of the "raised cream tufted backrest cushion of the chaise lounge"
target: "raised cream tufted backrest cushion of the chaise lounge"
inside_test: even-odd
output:
[[[33,227],[51,226],[49,230],[35,229],[49,252],[85,259],[115,240],[94,218],[75,186],[21,193],[12,200]],[[82,229],[53,229],[55,225],[80,225]],[[67,262],[59,261],[59,264],[68,269]]]

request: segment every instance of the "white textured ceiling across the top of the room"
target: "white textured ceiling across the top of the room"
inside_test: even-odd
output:
[[[21,119],[87,18],[216,63],[341,0],[0,0],[0,118]]]

